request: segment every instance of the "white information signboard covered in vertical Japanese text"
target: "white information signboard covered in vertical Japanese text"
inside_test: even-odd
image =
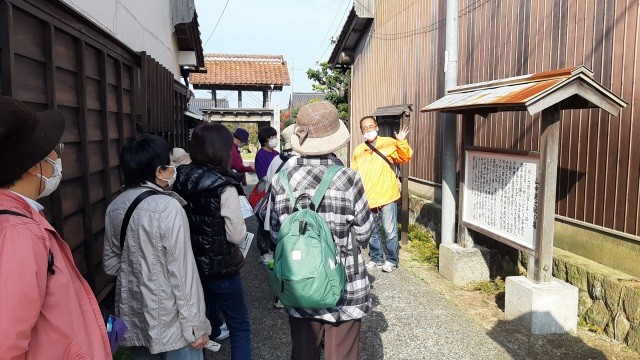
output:
[[[465,156],[463,225],[535,252],[539,158],[476,150]]]

